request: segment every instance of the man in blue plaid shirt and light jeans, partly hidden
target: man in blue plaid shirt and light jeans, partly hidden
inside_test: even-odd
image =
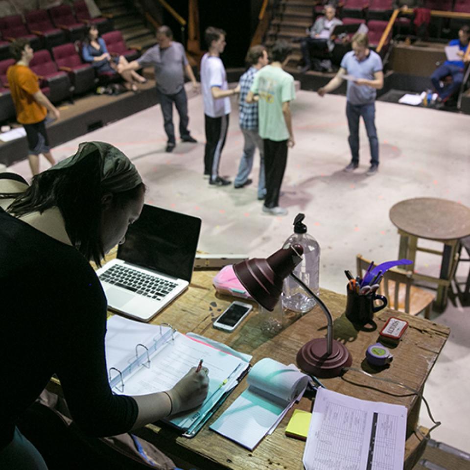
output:
[[[264,46],[251,47],[245,60],[251,67],[240,77],[238,105],[240,129],[245,142],[238,167],[238,174],[234,181],[234,188],[243,188],[253,183],[253,180],[249,179],[248,176],[253,168],[255,150],[258,147],[260,157],[258,199],[264,199],[266,188],[264,180],[263,140],[258,134],[258,103],[249,104],[245,101],[245,98],[253,84],[256,72],[268,64],[266,48]]]

